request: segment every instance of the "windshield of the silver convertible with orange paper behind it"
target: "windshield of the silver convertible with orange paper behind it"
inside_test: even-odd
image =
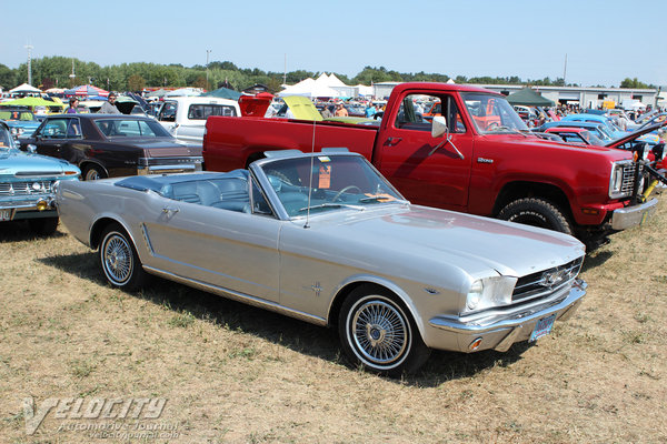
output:
[[[312,158],[277,159],[261,169],[290,218],[407,202],[358,155],[317,153]]]

